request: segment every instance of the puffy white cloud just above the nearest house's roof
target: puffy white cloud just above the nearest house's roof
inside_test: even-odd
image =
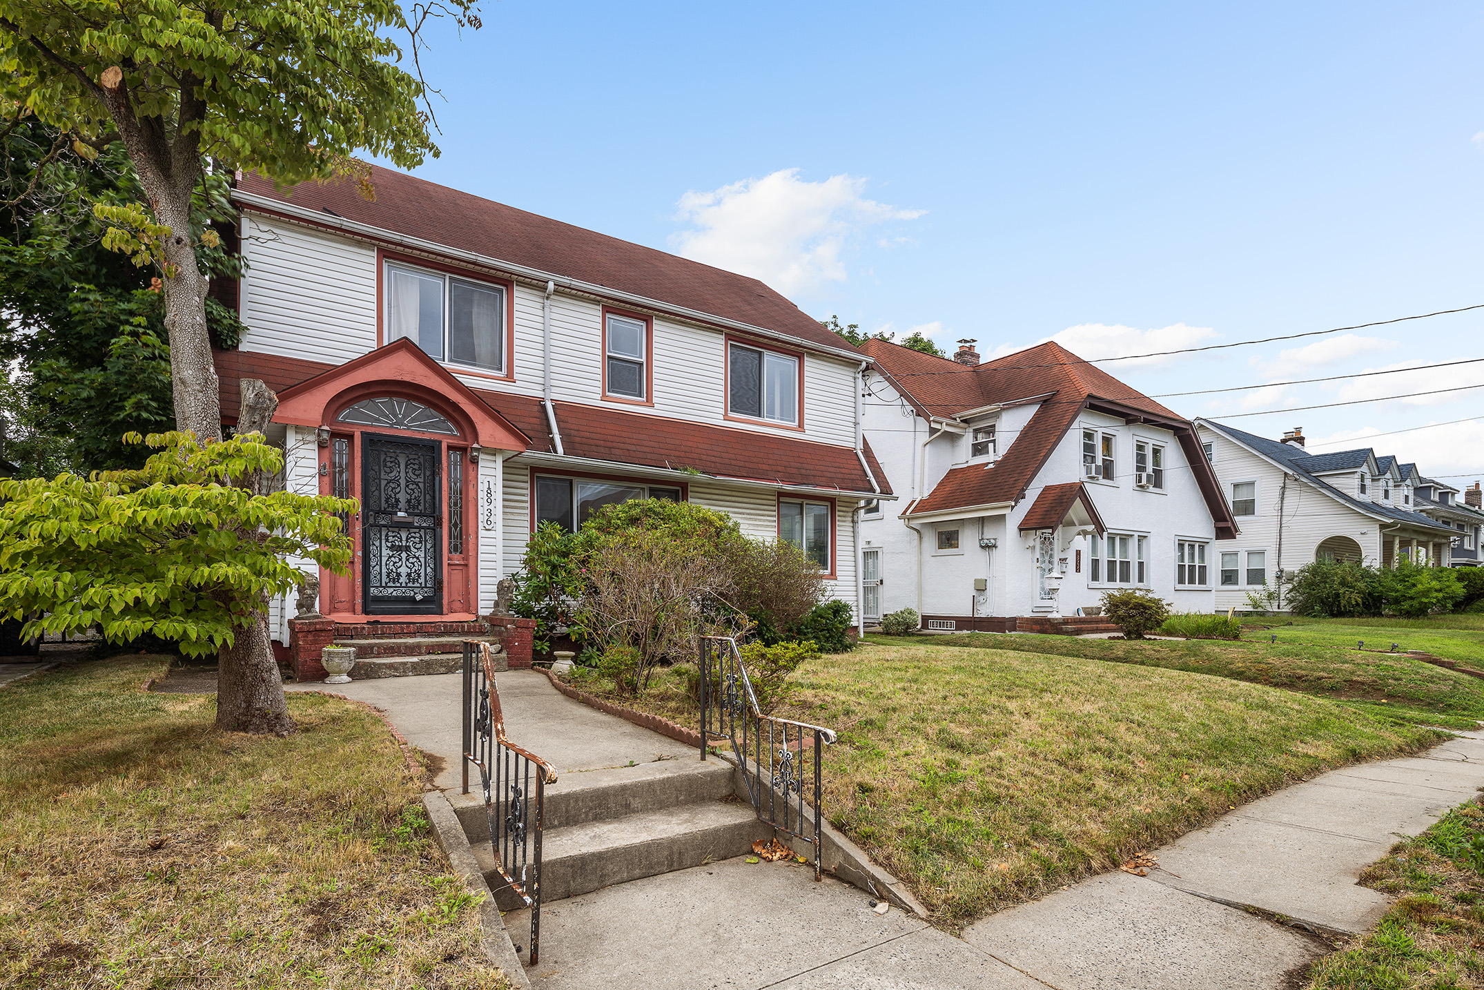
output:
[[[781,169],[709,193],[680,197],[678,218],[692,230],[671,236],[683,257],[761,279],[785,295],[847,278],[841,252],[867,227],[916,220],[922,209],[898,209],[867,199],[867,181],[831,175],[822,183]]]

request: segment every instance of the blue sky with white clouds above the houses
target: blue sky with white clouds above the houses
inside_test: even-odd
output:
[[[418,175],[757,275],[821,318],[1103,358],[1484,303],[1480,4],[485,0],[481,16],[424,58],[447,102]],[[1103,367],[1184,392],[1484,358],[1481,327],[1484,310]],[[1166,404],[1290,408],[1480,368]],[[1340,450],[1472,413],[1484,389],[1230,422]],[[1374,445],[1484,471],[1484,423]]]

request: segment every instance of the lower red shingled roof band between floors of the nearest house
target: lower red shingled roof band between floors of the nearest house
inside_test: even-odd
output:
[[[242,350],[217,350],[223,411],[234,419],[237,378],[263,378],[275,392],[307,381],[335,365]],[[470,389],[481,401],[530,438],[530,450],[554,453],[546,410],[534,396]],[[562,451],[571,457],[641,468],[695,468],[718,478],[871,493],[861,460],[849,447],[816,444],[729,426],[687,423],[644,413],[625,413],[580,402],[555,402]],[[865,459],[883,494],[886,472],[865,445]]]

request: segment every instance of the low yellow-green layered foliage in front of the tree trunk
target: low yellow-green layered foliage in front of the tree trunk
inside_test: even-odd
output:
[[[298,585],[289,557],[350,563],[334,514],[353,500],[242,485],[283,463],[261,433],[145,442],[159,453],[137,471],[0,481],[0,601],[6,619],[27,619],[24,635],[96,626],[110,641],[153,634],[209,656],[261,626],[267,595]],[[223,683],[218,708],[248,708],[249,732],[286,732],[282,686],[239,696],[255,683]]]

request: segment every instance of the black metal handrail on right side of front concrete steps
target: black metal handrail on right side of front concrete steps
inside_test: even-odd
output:
[[[702,760],[711,739],[730,741],[758,819],[813,845],[815,880],[819,880],[824,876],[819,862],[821,753],[834,745],[835,733],[824,726],[764,715],[736,640],[720,635],[700,637]],[[813,750],[813,760],[804,758],[806,748]],[[809,790],[813,790],[813,804],[804,801]]]

